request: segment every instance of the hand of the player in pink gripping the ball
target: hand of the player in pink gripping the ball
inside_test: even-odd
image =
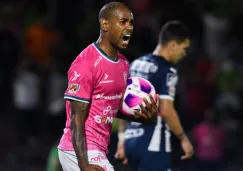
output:
[[[148,102],[146,98],[143,99],[145,107],[140,104],[141,111],[134,111],[135,117],[142,118],[144,122],[155,123],[157,121],[158,111],[159,111],[159,95],[156,95],[156,102],[152,95],[149,95],[151,103]]]

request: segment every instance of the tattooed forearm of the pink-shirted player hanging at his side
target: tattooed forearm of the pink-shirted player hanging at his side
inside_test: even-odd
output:
[[[84,135],[84,120],[82,114],[75,114],[71,121],[72,143],[78,159],[80,169],[88,165],[86,139]]]

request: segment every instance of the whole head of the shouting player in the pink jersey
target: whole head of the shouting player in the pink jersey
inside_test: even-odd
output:
[[[101,38],[117,49],[125,49],[133,32],[131,10],[121,2],[110,2],[99,13]]]

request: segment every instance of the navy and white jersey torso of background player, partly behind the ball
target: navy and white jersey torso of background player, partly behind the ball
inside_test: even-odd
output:
[[[166,83],[163,74],[172,68],[168,62],[161,60],[160,57],[148,55],[135,60],[130,67],[130,76],[143,77],[149,80],[154,86],[156,93],[160,94],[162,84]],[[140,124],[130,122],[127,124],[126,138],[130,142],[142,142],[144,146],[151,148],[151,151],[170,151],[169,141],[170,132],[165,124],[163,117],[158,116],[156,124]],[[135,140],[136,139],[136,140]],[[162,143],[163,142],[163,143]]]

